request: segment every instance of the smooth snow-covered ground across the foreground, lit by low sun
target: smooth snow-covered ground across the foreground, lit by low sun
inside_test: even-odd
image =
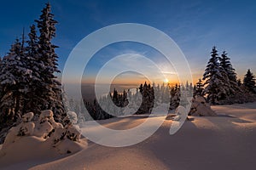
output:
[[[49,147],[42,138],[21,137],[8,148],[9,154],[0,156],[0,169],[254,169],[256,103],[215,105],[212,110],[227,116],[189,116],[192,121],[184,122],[174,135],[169,134],[172,121],[166,120],[142,143],[112,148],[89,142],[87,149],[65,157],[59,153],[61,145],[57,150]],[[99,122],[113,129],[129,129],[143,123],[146,118],[129,116]],[[82,144],[84,140],[80,140],[76,144]],[[65,150],[70,150],[68,143],[71,140],[67,141],[63,145],[69,147]]]

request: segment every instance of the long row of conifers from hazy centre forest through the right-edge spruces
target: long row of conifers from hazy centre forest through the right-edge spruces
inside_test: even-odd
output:
[[[169,84],[155,86],[154,83],[151,86],[145,82],[133,93],[131,90],[124,90],[120,94],[114,89],[113,93],[102,97],[99,101],[96,99],[93,102],[82,100],[80,106],[77,105],[76,109],[73,108],[72,110],[81,113],[79,115],[83,117],[81,108],[83,108],[82,105],[85,105],[93,119],[107,119],[125,115],[124,107],[129,104],[128,99],[132,103],[130,113],[134,114],[151,113],[154,106],[162,103],[167,103],[170,105],[169,110],[174,110],[180,104],[181,90],[188,96],[192,96],[192,94],[194,97],[196,95],[203,96],[212,105],[245,103],[256,100],[255,78],[250,69],[247,70],[241,81],[236,77],[236,70],[231,65],[228,54],[224,51],[219,57],[216,47],[213,47],[205,73],[194,87],[192,83],[188,82],[185,85],[176,84],[174,86]],[[140,96],[142,96],[141,99]],[[112,99],[113,104],[118,107],[109,108],[111,107],[109,99]],[[101,105],[105,108],[102,109]],[[107,111],[105,111],[106,108]],[[138,109],[136,110],[136,108]]]

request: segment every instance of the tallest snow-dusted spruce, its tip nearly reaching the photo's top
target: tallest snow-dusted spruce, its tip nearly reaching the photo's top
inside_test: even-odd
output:
[[[35,20],[38,24],[40,36],[38,37],[38,54],[39,59],[43,62],[43,68],[40,70],[42,84],[40,84],[40,96],[38,103],[42,104],[41,110],[50,109],[55,113],[55,120],[61,122],[61,118],[65,117],[64,107],[61,100],[61,82],[56,80],[55,73],[58,70],[58,56],[55,54],[55,46],[51,40],[55,37],[54,15],[51,14],[50,4],[42,10],[39,20]]]

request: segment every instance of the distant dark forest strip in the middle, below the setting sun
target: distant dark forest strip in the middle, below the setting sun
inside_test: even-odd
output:
[[[80,101],[69,99],[67,105],[69,105],[68,111],[75,111],[79,116],[79,121],[82,122],[90,120],[90,117],[84,114],[86,111],[94,120],[131,114],[149,114],[152,112],[153,107],[162,104],[169,105],[169,110],[176,109],[180,104],[181,90],[186,95],[192,96],[194,88],[192,83],[188,82],[185,85],[176,84],[174,86],[165,83],[162,85],[153,83],[151,85],[144,82],[133,91],[128,89],[119,93],[116,89],[113,89],[112,93],[102,96],[98,101],[96,99],[92,102],[86,99],[81,99]],[[113,102],[116,107],[111,105],[110,102]],[[185,102],[182,105],[187,105],[187,103]],[[128,108],[125,109],[125,106]]]

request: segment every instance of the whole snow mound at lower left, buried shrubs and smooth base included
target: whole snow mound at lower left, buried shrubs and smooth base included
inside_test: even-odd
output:
[[[32,121],[32,112],[22,116],[22,122],[10,128],[0,150],[0,158],[9,161],[15,153],[13,161],[22,161],[24,157],[61,156],[86,148],[87,142],[80,139],[81,133],[77,127],[72,124],[63,127],[61,123],[55,122],[53,115],[50,110],[42,111],[35,122]]]

